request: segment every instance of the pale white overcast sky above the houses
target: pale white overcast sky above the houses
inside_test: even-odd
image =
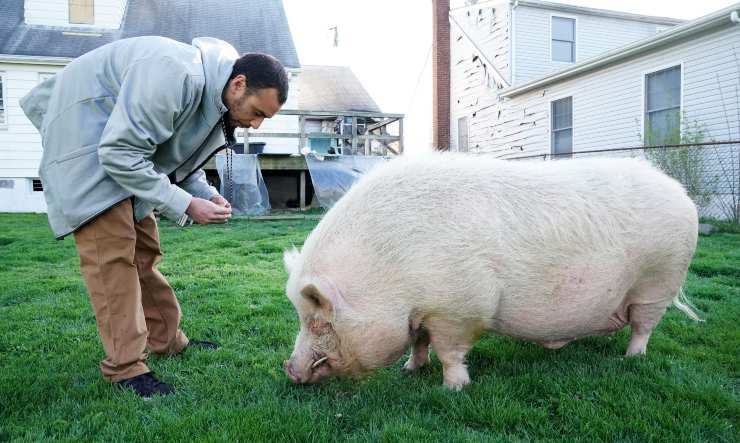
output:
[[[561,0],[690,20],[733,0]],[[450,0],[452,8],[465,0]],[[432,0],[283,0],[303,65],[349,66],[383,112],[405,114],[406,152],[431,144]],[[335,31],[337,28],[335,46]]]

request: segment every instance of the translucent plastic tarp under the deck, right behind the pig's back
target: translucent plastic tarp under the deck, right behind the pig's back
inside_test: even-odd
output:
[[[372,168],[390,160],[388,157],[362,155],[306,156],[316,199],[329,209]]]

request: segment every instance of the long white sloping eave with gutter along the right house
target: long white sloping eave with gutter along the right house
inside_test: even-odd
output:
[[[740,23],[735,23],[732,18],[738,13],[740,13],[740,3],[735,3],[730,7],[720,9],[712,14],[684,23],[683,25],[670,28],[652,37],[638,40],[635,43],[607,51],[603,54],[597,55],[596,57],[576,63],[573,66],[569,66],[565,69],[561,69],[527,83],[511,86],[502,90],[500,95],[502,97],[515,97],[533,89],[542,88],[615,63],[624,62],[625,60],[643,55],[653,50],[666,48],[707,30],[719,29],[732,25],[740,26]]]

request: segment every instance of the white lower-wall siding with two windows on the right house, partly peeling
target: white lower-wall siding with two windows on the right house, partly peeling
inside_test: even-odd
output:
[[[471,132],[470,145],[498,156],[549,153],[550,102],[571,96],[574,152],[639,146],[644,75],[679,64],[686,123],[707,140],[740,139],[740,26],[733,25],[505,99],[500,117],[479,123],[492,130]]]

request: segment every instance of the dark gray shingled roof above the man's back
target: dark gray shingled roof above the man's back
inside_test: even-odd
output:
[[[288,68],[300,67],[281,0],[128,0],[121,28],[114,30],[28,25],[23,8],[24,0],[0,1],[0,54],[75,58],[127,37],[160,35],[184,43],[216,37],[239,53],[265,52]]]

